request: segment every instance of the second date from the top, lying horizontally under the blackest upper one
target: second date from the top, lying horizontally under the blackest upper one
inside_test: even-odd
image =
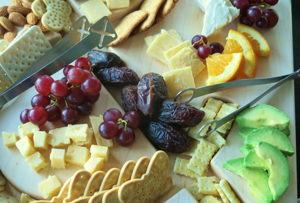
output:
[[[111,67],[100,69],[97,71],[97,73],[95,73],[95,75],[103,84],[111,84],[117,86],[124,86],[128,84],[137,85],[140,81],[137,73],[126,67]]]

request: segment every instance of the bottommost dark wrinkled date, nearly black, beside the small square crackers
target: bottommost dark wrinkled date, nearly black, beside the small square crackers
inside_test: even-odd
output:
[[[146,137],[158,149],[183,153],[189,148],[189,137],[180,128],[163,122],[152,122],[146,129]]]

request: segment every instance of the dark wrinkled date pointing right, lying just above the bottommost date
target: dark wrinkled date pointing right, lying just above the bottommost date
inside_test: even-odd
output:
[[[205,112],[182,102],[165,101],[159,110],[158,120],[179,127],[194,127],[198,125]]]

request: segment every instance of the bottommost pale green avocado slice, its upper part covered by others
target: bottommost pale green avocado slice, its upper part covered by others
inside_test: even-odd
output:
[[[243,167],[244,158],[231,159],[222,164],[224,168],[230,170],[232,173],[246,179],[250,191],[253,196],[261,203],[270,203],[273,200],[268,178],[269,174],[262,169],[250,169]]]

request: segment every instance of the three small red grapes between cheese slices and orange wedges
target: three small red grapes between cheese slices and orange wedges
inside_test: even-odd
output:
[[[213,42],[207,44],[207,38],[204,35],[196,35],[192,38],[192,44],[195,49],[197,49],[198,56],[202,59],[206,59],[208,55],[214,53],[222,53],[224,47],[222,44]]]

